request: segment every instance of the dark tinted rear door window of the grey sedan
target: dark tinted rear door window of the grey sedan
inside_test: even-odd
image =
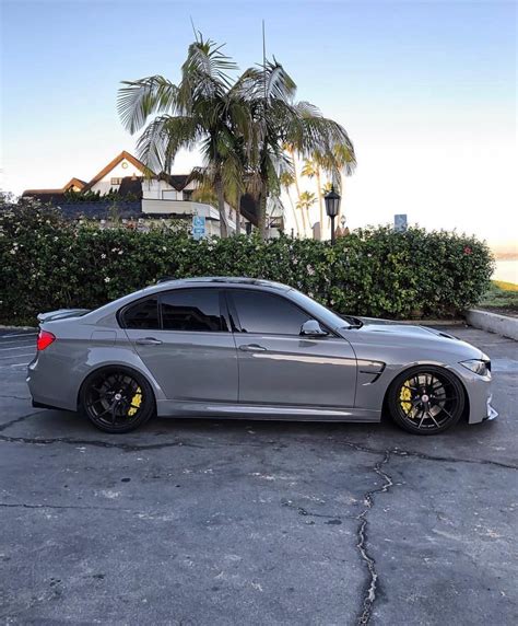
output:
[[[161,295],[164,331],[226,331],[216,289],[178,289]]]

